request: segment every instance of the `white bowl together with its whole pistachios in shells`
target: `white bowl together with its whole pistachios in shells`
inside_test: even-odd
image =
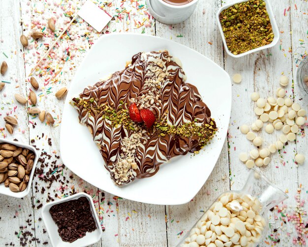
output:
[[[28,195],[37,160],[33,146],[0,138],[0,194],[17,198]]]

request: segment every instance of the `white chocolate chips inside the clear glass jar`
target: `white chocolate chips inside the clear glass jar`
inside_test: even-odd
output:
[[[266,226],[257,198],[223,193],[185,238],[182,247],[253,247]]]

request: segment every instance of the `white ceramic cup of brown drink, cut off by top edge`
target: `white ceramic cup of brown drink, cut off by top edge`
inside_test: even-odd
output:
[[[151,15],[159,22],[177,24],[188,19],[195,10],[198,0],[175,5],[163,0],[146,0]]]

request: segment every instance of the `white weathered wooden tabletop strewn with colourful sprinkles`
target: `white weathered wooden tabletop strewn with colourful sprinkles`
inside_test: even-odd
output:
[[[54,2],[59,3],[59,7],[55,6]],[[28,49],[22,47],[19,38],[22,34],[29,36],[31,21],[43,23],[41,27],[43,29],[47,20],[53,16],[57,19],[56,29],[64,27],[63,22],[70,20],[68,16],[71,13],[68,11],[64,15],[61,7],[68,10],[76,5],[80,6],[81,3],[78,0],[0,0],[0,62],[5,60],[8,64],[7,73],[5,76],[0,76],[0,79],[11,82],[7,83],[0,92],[0,127],[4,127],[3,116],[6,113],[17,116],[19,122],[13,135],[5,129],[1,129],[0,135],[2,137],[7,135],[6,138],[9,140],[18,139],[32,143],[39,148],[39,153],[45,152],[42,157],[45,158],[46,164],[44,168],[40,168],[41,163],[38,164],[38,168],[42,170],[37,171],[32,190],[27,197],[15,199],[0,195],[0,246],[11,243],[15,246],[20,246],[21,243],[25,243],[26,246],[50,246],[48,234],[41,220],[41,205],[51,198],[61,198],[78,191],[86,191],[93,196],[105,228],[101,242],[94,245],[95,247],[176,246],[201,216],[202,211],[206,210],[221,192],[230,188],[241,188],[244,184],[248,169],[239,161],[238,155],[240,152],[249,151],[252,143],[240,134],[238,127],[244,123],[252,123],[256,119],[250,93],[259,91],[263,97],[274,95],[279,86],[278,78],[281,73],[293,79],[301,55],[307,51],[308,3],[306,0],[272,0],[280,31],[280,42],[272,49],[240,59],[233,59],[224,53],[215,20],[221,3],[225,4],[231,0],[222,2],[200,0],[195,12],[187,21],[172,26],[155,22],[152,17],[149,21],[150,16],[147,14],[146,6],[143,6],[145,0],[126,0],[125,2],[96,0],[96,2],[99,2],[99,5],[111,15],[115,15],[114,20],[103,33],[135,32],[173,39],[209,57],[224,68],[230,76],[234,73],[242,74],[242,83],[232,85],[233,101],[229,134],[220,158],[213,173],[196,197],[181,206],[155,206],[118,199],[115,195],[104,194],[103,191],[99,191],[73,175],[68,169],[62,169],[62,161],[58,156],[60,156],[59,135],[64,100],[57,100],[54,94],[63,86],[69,87],[70,78],[74,76],[75,69],[86,51],[91,48],[91,43],[95,42],[101,34],[90,30],[86,23],[77,19],[78,23],[71,28],[72,33],[64,35],[64,39],[59,41],[59,46],[54,50],[56,54],[63,57],[63,61],[58,64],[56,59],[52,60],[51,68],[55,70],[53,74],[57,74],[55,78],[53,80],[50,78],[52,76],[50,71],[37,72],[34,75],[41,88],[36,92],[39,97],[37,106],[52,112],[56,118],[54,126],[42,124],[38,119],[28,116],[27,106],[18,104],[14,94],[19,93],[24,96],[29,94],[31,85],[28,74],[38,59],[38,53],[44,53],[47,44],[51,43],[51,38],[45,37],[38,41],[37,47],[28,47]],[[130,11],[129,16],[125,11]],[[119,14],[119,12],[122,13]],[[46,29],[45,34],[48,32]],[[73,34],[74,31],[77,31],[76,35]],[[30,45],[36,44],[31,42],[32,39],[29,41]],[[74,50],[74,47],[77,47],[77,50]],[[66,48],[70,53],[65,53]],[[300,92],[296,83],[294,83],[294,90],[291,83],[286,90],[287,95],[291,95],[296,101],[300,101],[301,106],[308,108],[308,97]],[[263,137],[270,142],[276,141],[274,135]],[[302,135],[296,142],[289,142],[283,150],[285,152],[273,155],[270,165],[261,168],[261,171],[282,190],[288,191],[289,199],[285,203],[289,207],[287,210],[289,213],[293,212],[296,206],[294,196],[297,195],[297,188],[300,185],[302,186],[301,198],[305,201],[308,199],[308,162],[306,161],[306,164],[299,168],[296,168],[294,163],[295,153],[301,152],[307,155],[307,148],[308,137]],[[51,173],[54,176],[59,175],[59,178],[52,183],[46,182],[52,176]],[[45,191],[42,191],[42,188],[45,188]],[[308,204],[305,209],[308,209]],[[276,222],[274,215],[278,216]],[[280,216],[277,210],[271,213],[270,222],[274,224],[271,225],[272,229],[267,236],[273,234],[274,229],[277,229],[277,232],[270,238],[267,237],[260,246],[275,244],[292,246],[292,238],[296,237],[294,225],[290,222],[284,224],[279,219]],[[280,239],[280,242],[276,243],[273,239]]]

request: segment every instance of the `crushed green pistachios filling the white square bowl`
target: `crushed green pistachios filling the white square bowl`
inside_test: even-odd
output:
[[[236,3],[219,16],[230,52],[234,55],[270,44],[274,33],[263,0]]]

